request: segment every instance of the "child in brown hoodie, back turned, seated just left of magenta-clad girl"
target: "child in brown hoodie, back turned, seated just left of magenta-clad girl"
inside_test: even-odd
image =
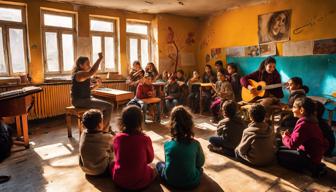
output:
[[[263,166],[274,160],[274,131],[264,122],[265,107],[252,105],[249,110],[251,123],[244,130],[240,144],[235,153],[238,159],[255,166]]]

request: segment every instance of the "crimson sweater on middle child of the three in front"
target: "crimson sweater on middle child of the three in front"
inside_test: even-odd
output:
[[[113,141],[114,165],[112,180],[125,189],[141,189],[154,180],[154,170],[148,166],[154,159],[152,140],[145,134],[119,133]]]

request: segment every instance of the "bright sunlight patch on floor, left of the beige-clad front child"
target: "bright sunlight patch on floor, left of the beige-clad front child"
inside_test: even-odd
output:
[[[36,147],[34,148],[34,151],[41,157],[42,160],[48,160],[71,154],[71,151],[63,143]]]

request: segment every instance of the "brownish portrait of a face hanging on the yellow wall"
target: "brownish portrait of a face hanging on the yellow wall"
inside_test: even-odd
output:
[[[291,10],[258,15],[259,44],[288,41],[290,36]]]

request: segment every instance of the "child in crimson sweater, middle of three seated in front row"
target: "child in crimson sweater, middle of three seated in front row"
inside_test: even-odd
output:
[[[123,109],[118,133],[113,142],[115,160],[111,166],[113,182],[125,190],[140,190],[155,179],[150,164],[154,159],[152,140],[142,132],[143,115],[139,107]]]

